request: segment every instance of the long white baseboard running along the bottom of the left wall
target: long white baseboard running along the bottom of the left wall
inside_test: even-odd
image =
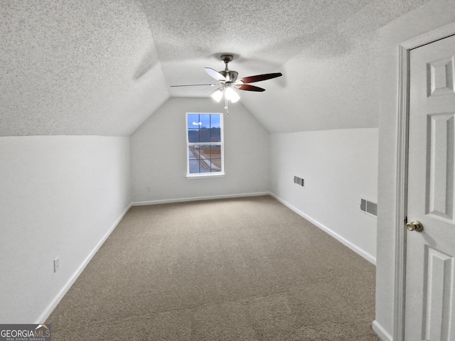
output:
[[[68,290],[70,290],[71,286],[73,286],[73,283],[76,281],[77,277],[79,277],[80,274],[82,274],[82,271],[84,271],[85,266],[87,266],[87,264],[89,264],[89,262],[92,260],[93,256],[95,256],[95,254],[100,249],[102,244],[104,244],[104,242],[106,241],[107,237],[109,237],[109,235],[112,233],[112,231],[114,231],[114,229],[117,227],[119,222],[123,219],[124,215],[127,214],[128,210],[131,206],[132,205],[129,204],[128,207],[126,208],[126,210],[124,210],[124,212],[122,212],[120,217],[118,217],[117,220],[114,222],[114,224],[112,224],[112,227],[106,232],[106,234],[102,237],[100,242],[98,242],[98,244],[96,244],[96,246],[92,249],[90,254],[88,254],[88,256],[84,259],[84,261],[82,261],[82,264],[80,264],[79,268],[75,271],[73,276],[70,277],[68,282],[65,283],[65,286],[63,286],[63,288],[60,289],[57,296],[55,296],[55,298],[45,308],[43,313],[41,313],[40,317],[38,318],[38,320],[36,320],[35,324],[38,325],[41,323],[45,323],[45,320],[49,317],[50,313],[53,312],[53,310],[58,305],[58,303],[61,301],[63,296],[65,296],[65,293],[67,293]]]

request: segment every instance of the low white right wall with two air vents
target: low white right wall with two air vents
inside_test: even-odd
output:
[[[270,173],[274,195],[375,262],[376,218],[360,198],[376,202],[378,129],[272,134]]]

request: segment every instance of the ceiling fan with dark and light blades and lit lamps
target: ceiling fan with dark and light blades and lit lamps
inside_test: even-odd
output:
[[[234,89],[262,92],[265,91],[265,89],[263,89],[262,87],[256,87],[255,85],[250,85],[248,83],[260,82],[262,80],[270,80],[272,78],[282,76],[281,72],[276,72],[266,73],[264,75],[243,77],[240,80],[237,80],[238,72],[228,69],[228,63],[232,61],[233,56],[221,55],[220,59],[223,61],[223,63],[225,63],[225,70],[216,71],[210,67],[205,67],[205,72],[207,72],[208,75],[213,77],[215,80],[218,80],[219,82],[218,84],[171,85],[171,87],[198,87],[205,85],[211,87],[218,86],[218,88],[215,89],[210,94],[210,97],[215,99],[216,102],[220,102],[224,95],[226,114],[229,114],[228,101],[235,103],[240,99],[239,94],[237,94],[237,92],[235,92]]]

